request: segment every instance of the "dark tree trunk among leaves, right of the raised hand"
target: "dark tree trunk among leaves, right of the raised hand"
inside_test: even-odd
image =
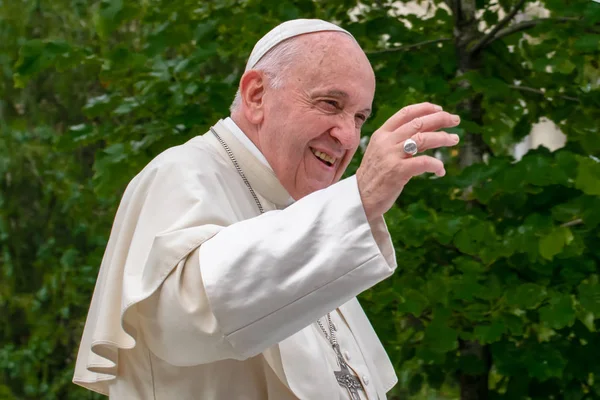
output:
[[[452,0],[452,9],[454,14],[454,40],[456,56],[458,59],[458,76],[464,75],[468,71],[474,71],[481,68],[483,60],[481,52],[472,53],[469,51],[469,45],[475,40],[480,39],[482,34],[479,32],[475,17],[475,0]],[[459,86],[462,89],[468,89],[470,83],[467,80],[460,81]],[[476,95],[469,97],[458,105],[458,113],[469,121],[482,123],[483,111],[481,108],[482,97]],[[461,168],[468,167],[471,164],[483,161],[483,155],[487,151],[480,134],[466,132],[462,138],[463,145],[459,154],[459,163]],[[484,370],[479,375],[467,375],[460,372],[460,395],[461,400],[487,400],[488,398],[488,378],[491,368],[491,354],[489,347],[481,345],[476,341],[460,341],[460,352],[462,356],[475,356],[484,365]]]

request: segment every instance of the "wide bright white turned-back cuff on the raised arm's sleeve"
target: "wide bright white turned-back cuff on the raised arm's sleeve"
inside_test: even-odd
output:
[[[212,312],[243,357],[310,325],[395,268],[383,218],[369,225],[354,176],[236,223],[200,247]]]

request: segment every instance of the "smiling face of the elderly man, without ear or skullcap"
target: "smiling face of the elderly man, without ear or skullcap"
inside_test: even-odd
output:
[[[259,147],[277,178],[298,200],[337,182],[360,142],[370,114],[375,76],[345,34],[303,37],[310,51],[297,57],[280,88],[268,88]]]

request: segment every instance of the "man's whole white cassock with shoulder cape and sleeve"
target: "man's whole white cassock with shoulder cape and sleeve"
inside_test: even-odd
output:
[[[288,206],[233,121],[214,129],[265,213],[211,132],[150,162],[119,206],[73,382],[127,400],[348,399],[315,323],[331,311],[361,399],[385,399],[397,378],[355,298],[396,268],[383,218],[368,223],[354,176]]]

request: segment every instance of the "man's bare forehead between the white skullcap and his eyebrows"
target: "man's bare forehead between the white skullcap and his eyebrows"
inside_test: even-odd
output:
[[[302,37],[302,54],[294,63],[292,78],[312,92],[328,92],[347,100],[370,103],[375,75],[366,55],[345,33],[319,32]]]

